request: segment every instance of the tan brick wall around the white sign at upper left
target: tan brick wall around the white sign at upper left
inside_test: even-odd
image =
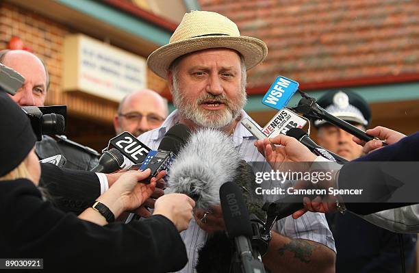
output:
[[[51,82],[45,104],[66,104],[69,112],[77,116],[110,122],[116,112],[116,103],[61,92],[63,43],[65,36],[73,32],[77,31],[29,10],[0,3],[0,49],[6,49],[10,38],[16,36],[45,62]],[[166,82],[149,70],[147,82],[148,88],[157,92],[166,88]]]

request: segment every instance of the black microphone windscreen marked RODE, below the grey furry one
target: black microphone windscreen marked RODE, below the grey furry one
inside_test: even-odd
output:
[[[240,187],[234,182],[221,185],[220,201],[225,228],[229,237],[252,237],[253,231],[249,211],[247,211]]]

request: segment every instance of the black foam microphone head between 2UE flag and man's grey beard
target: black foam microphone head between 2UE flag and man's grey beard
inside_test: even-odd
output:
[[[159,150],[171,151],[175,155],[179,153],[180,148],[186,143],[190,136],[190,129],[183,124],[174,125],[164,134],[159,145]]]

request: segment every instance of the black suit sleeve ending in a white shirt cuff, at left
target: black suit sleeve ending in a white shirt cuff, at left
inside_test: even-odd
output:
[[[99,178],[94,172],[58,168],[41,164],[40,186],[62,211],[81,213],[101,195]]]

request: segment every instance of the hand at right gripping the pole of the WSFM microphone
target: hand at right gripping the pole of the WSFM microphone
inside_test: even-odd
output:
[[[387,144],[394,144],[406,136],[403,133],[382,126],[377,126],[374,129],[368,129],[366,133],[378,138],[379,140],[370,140],[365,142],[357,137],[353,137],[353,141],[355,143],[364,146],[364,148],[362,148],[362,152],[365,154],[371,153],[372,151],[377,150],[377,148],[381,148],[383,146],[381,141]]]

